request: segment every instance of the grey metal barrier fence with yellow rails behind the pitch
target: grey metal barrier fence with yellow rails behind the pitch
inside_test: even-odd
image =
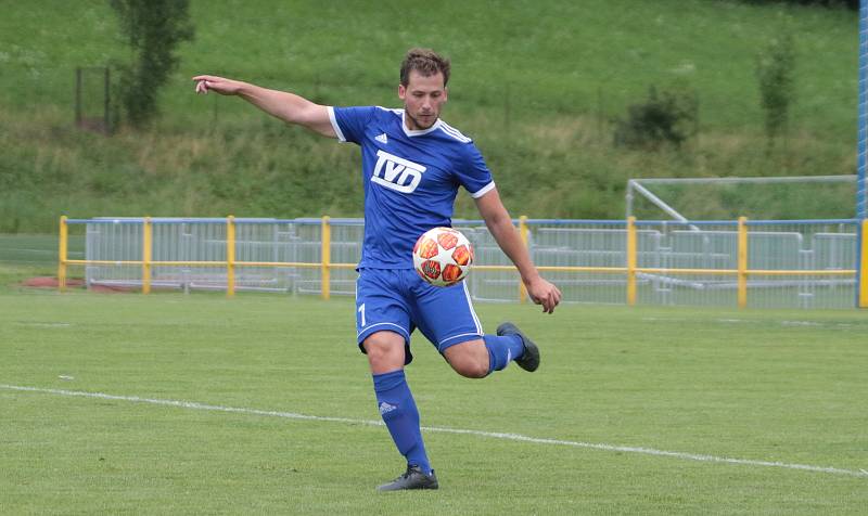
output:
[[[99,218],[61,221],[61,271],[84,266],[88,285],[355,294],[361,219]],[[531,256],[565,302],[852,308],[860,223],[791,221],[515,221]],[[481,220],[455,220],[473,243],[474,299],[522,300],[509,259]],[[64,238],[85,232],[84,260]],[[865,244],[861,244],[863,246]],[[865,255],[865,253],[861,253]]]

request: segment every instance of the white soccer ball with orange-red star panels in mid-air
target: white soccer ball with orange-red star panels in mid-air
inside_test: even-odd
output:
[[[413,267],[434,286],[455,285],[467,278],[473,265],[468,237],[451,228],[426,231],[413,246]]]

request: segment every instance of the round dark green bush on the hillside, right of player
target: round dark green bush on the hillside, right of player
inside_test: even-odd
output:
[[[689,90],[648,90],[648,99],[627,107],[627,118],[616,120],[615,145],[660,149],[669,144],[680,147],[697,132],[699,100]]]

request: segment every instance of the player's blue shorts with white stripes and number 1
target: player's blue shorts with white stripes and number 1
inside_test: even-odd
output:
[[[375,332],[404,337],[405,363],[410,363],[410,334],[416,328],[443,353],[456,344],[482,338],[464,282],[432,286],[412,269],[360,269],[356,281],[356,331],[361,343]]]

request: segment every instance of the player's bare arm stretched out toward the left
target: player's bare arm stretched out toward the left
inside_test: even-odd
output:
[[[196,93],[214,91],[221,95],[238,95],[288,124],[306,127],[324,137],[337,138],[329,119],[328,107],[303,96],[213,75],[197,75],[193,80],[196,82]]]

